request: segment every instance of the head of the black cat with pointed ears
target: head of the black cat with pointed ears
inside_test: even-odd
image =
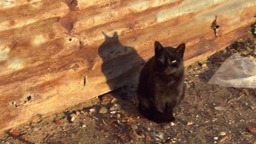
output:
[[[183,69],[183,53],[185,44],[180,44],[176,49],[163,47],[155,41],[155,62],[161,73],[173,74]]]

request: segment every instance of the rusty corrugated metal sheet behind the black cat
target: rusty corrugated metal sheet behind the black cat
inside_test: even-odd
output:
[[[185,59],[216,51],[255,13],[254,0],[1,1],[0,131],[136,80],[155,40],[186,43]]]

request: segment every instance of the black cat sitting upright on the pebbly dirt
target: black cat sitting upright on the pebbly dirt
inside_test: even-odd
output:
[[[144,65],[137,89],[139,110],[156,123],[174,121],[173,109],[184,98],[185,44],[162,47],[155,41],[155,56]]]

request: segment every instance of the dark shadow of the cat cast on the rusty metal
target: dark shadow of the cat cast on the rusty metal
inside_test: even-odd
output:
[[[118,101],[125,102],[120,104],[124,111],[133,113],[134,109],[130,109],[132,105],[128,103],[135,96],[136,88],[131,88],[129,92],[121,92],[120,88],[123,87],[121,90],[124,90],[125,85],[138,81],[140,66],[144,64],[144,60],[133,47],[120,43],[117,32],[114,32],[112,37],[104,32],[102,34],[105,40],[98,48],[98,55],[103,60],[101,71],[106,77],[110,91],[119,88],[117,91],[111,92],[111,95]],[[135,105],[133,105],[134,107]]]

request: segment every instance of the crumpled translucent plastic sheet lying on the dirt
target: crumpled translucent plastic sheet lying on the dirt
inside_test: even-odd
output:
[[[208,83],[224,87],[255,88],[256,59],[250,60],[236,53],[226,59]]]

